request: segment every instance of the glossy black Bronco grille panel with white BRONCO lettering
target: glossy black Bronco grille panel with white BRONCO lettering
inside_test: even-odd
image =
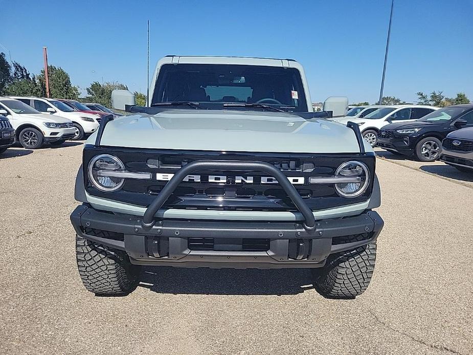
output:
[[[98,153],[110,153],[110,148],[84,148],[86,166]],[[371,186],[358,197],[348,199],[339,196],[333,184],[310,184],[311,176],[330,177],[344,162],[361,161],[374,170],[374,154],[314,154],[314,153],[261,153],[179,151],[116,148],[113,151],[128,171],[150,172],[151,180],[126,179],[121,190],[102,193],[87,184],[89,194],[114,199],[123,203],[148,206],[178,169],[199,160],[260,161],[272,164],[283,171],[312,210],[340,207],[366,201]],[[209,180],[212,175],[213,179]],[[167,178],[165,179],[165,176]],[[196,171],[194,178],[183,181],[167,199],[164,208],[223,210],[223,211],[297,211],[287,193],[268,174],[259,171]],[[195,176],[198,176],[196,181]],[[215,176],[224,176],[216,180]],[[84,176],[86,180],[87,176]],[[250,181],[249,178],[253,180]],[[265,178],[262,181],[262,178]],[[303,179],[303,180],[302,180]],[[373,179],[371,179],[373,181]]]

